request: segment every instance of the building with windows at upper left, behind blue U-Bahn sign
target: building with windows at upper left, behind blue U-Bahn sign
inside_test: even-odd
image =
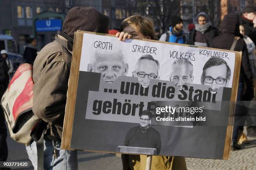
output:
[[[58,31],[36,32],[34,18],[41,13],[48,13],[49,19],[51,14],[66,15],[74,6],[92,6],[102,12],[102,0],[0,0],[0,34],[13,36],[20,54],[26,40],[36,37],[39,51]]]

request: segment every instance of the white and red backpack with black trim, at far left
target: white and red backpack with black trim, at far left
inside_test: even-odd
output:
[[[32,70],[32,65],[21,64],[1,99],[10,137],[25,145],[30,144],[31,132],[41,121],[32,112],[34,85]]]

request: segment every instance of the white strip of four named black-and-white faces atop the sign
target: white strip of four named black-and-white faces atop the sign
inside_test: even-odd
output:
[[[232,52],[131,39],[121,42],[90,34],[84,35],[84,42],[90,45],[82,47],[80,71],[100,72],[108,83],[131,76],[143,87],[148,87],[150,80],[173,81],[180,90],[184,83],[209,85],[213,93],[219,87],[232,87]],[[221,74],[205,75],[208,72]]]

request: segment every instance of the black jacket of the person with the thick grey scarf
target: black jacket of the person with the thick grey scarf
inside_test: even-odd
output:
[[[195,45],[195,36],[198,31],[193,29],[190,34],[189,34],[189,45]],[[201,33],[201,32],[199,32]],[[210,26],[202,36],[205,39],[205,42],[207,44],[207,47],[212,46],[212,41],[214,37],[217,37],[219,35],[219,30],[218,28]]]

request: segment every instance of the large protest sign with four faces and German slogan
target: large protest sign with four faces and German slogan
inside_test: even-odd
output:
[[[61,148],[227,160],[240,65],[241,52],[78,31]]]

